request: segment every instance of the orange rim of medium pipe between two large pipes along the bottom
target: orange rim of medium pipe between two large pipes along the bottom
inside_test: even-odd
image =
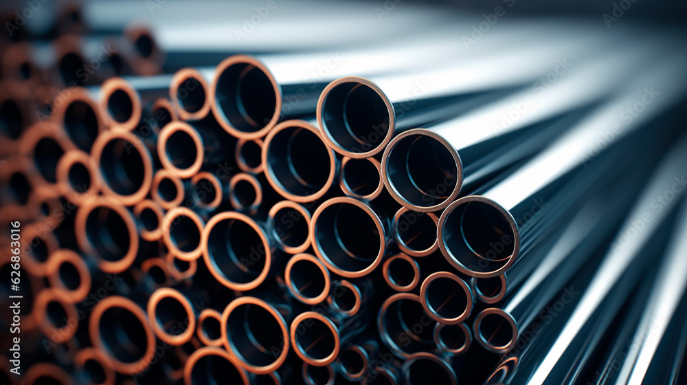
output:
[[[164,327],[160,325],[156,311],[157,305],[159,305],[160,301],[164,298],[177,300],[186,311],[188,325],[183,333],[178,335],[167,333]],[[148,298],[148,319],[150,320],[150,325],[153,326],[155,336],[171,345],[181,345],[189,342],[193,337],[193,333],[196,331],[196,316],[194,314],[193,305],[191,305],[190,300],[188,300],[186,296],[171,287],[161,287],[155,290],[153,294],[150,294],[150,298]]]

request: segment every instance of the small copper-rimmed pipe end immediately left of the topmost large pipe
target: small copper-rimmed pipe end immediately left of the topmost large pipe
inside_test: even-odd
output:
[[[210,113],[210,87],[197,69],[183,68],[174,73],[170,99],[181,120],[201,120]]]

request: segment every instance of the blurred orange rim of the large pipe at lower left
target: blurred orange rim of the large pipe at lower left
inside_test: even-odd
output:
[[[141,322],[141,326],[146,333],[146,351],[143,357],[135,362],[122,362],[118,360],[109,352],[109,349],[100,336],[100,319],[105,311],[112,307],[119,307],[133,314],[133,316],[138,318],[139,322]],[[122,296],[105,297],[93,307],[93,312],[89,319],[89,337],[91,338],[93,347],[102,351],[111,362],[115,371],[122,374],[131,375],[146,369],[155,356],[155,333],[153,333],[153,329],[150,328],[146,313],[132,300]]]

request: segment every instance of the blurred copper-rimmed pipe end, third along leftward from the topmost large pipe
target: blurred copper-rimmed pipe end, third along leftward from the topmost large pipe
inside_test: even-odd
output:
[[[52,105],[50,120],[63,126],[78,148],[91,151],[95,138],[106,129],[93,94],[81,87],[65,89],[54,98]]]

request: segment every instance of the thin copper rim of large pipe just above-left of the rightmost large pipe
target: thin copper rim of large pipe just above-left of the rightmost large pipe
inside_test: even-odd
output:
[[[444,201],[436,205],[417,206],[413,203],[410,203],[401,196],[401,193],[398,192],[398,190],[396,190],[396,186],[394,186],[389,179],[389,169],[387,164],[389,161],[389,157],[391,156],[391,152],[394,151],[394,148],[396,147],[396,144],[398,144],[398,142],[405,139],[405,137],[409,137],[411,135],[427,136],[431,137],[433,140],[440,142],[449,151],[449,153],[451,153],[451,157],[453,157],[453,162],[455,163],[455,168],[456,170],[458,170],[458,173],[455,177],[455,186],[453,186],[451,194],[449,195],[449,197],[444,199]],[[451,144],[446,139],[444,139],[444,137],[442,137],[438,133],[426,129],[412,129],[396,135],[396,137],[394,137],[394,139],[389,143],[389,145],[386,146],[384,153],[382,155],[382,179],[384,181],[384,186],[386,186],[387,188],[387,191],[389,191],[390,195],[394,198],[394,200],[396,200],[398,203],[401,203],[401,206],[417,212],[433,212],[446,208],[447,206],[449,206],[449,204],[451,204],[451,202],[453,202],[453,200],[456,197],[458,197],[458,192],[460,192],[460,188],[462,186],[463,181],[462,163],[460,161],[460,156],[458,155],[458,152],[455,151],[455,148],[453,148],[453,146],[451,146]]]

